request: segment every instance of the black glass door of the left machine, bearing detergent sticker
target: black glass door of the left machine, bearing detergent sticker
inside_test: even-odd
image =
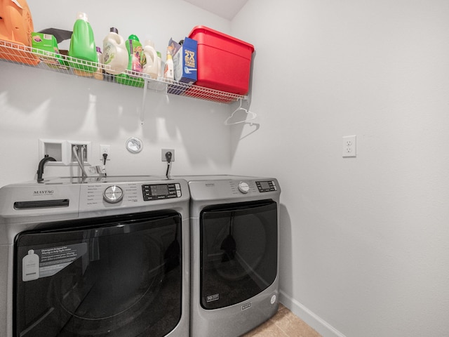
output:
[[[53,225],[72,229],[17,237],[15,336],[165,336],[175,328],[180,214]]]

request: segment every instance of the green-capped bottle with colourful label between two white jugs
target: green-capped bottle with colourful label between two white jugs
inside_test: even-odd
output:
[[[139,38],[134,34],[128,37],[125,41],[126,50],[128,51],[128,70],[132,72],[142,72],[142,65],[140,63],[140,56],[143,53],[142,44],[140,44]],[[126,84],[127,86],[137,86],[142,88],[145,84],[141,77],[133,77],[128,74],[118,74],[115,76],[115,80],[119,84]]]

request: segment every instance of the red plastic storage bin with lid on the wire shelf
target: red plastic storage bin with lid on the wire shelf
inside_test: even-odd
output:
[[[254,46],[205,26],[189,38],[198,41],[196,86],[246,95]]]

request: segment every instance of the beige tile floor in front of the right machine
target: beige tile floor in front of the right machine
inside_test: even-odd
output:
[[[271,319],[242,337],[321,337],[283,305]]]

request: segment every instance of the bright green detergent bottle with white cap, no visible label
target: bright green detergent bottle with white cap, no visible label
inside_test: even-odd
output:
[[[69,62],[70,67],[87,73],[97,71],[97,67],[93,64],[98,63],[97,47],[86,13],[79,12],[77,15],[68,55],[71,58],[76,58],[76,60],[69,60],[72,61]]]

